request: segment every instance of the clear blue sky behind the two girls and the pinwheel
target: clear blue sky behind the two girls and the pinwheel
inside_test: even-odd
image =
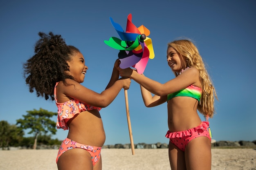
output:
[[[101,93],[108,84],[118,52],[104,44],[119,38],[109,18],[126,29],[132,22],[150,30],[155,58],[144,74],[165,83],[174,78],[166,62],[167,43],[178,38],[195,41],[216,87],[219,101],[210,119],[213,139],[256,140],[256,2],[252,0],[0,0],[0,120],[16,124],[27,110],[56,112],[54,102],[29,93],[22,64],[34,54],[38,32],[61,34],[80,49],[88,72],[83,85]],[[167,106],[146,108],[139,85],[128,90],[130,121],[135,144],[168,143]],[[124,90],[101,111],[105,144],[130,143]],[[56,121],[56,117],[52,120]],[[54,137],[62,140],[67,130]]]

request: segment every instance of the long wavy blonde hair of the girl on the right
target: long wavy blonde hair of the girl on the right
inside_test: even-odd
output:
[[[202,96],[198,104],[198,111],[202,113],[204,117],[213,117],[215,113],[214,97],[216,97],[216,99],[218,99],[218,97],[197,47],[190,40],[175,40],[168,43],[168,48],[169,47],[173,47],[173,49],[185,57],[186,67],[189,66],[198,69],[199,79],[202,84]],[[174,74],[177,77],[177,73],[174,72]]]

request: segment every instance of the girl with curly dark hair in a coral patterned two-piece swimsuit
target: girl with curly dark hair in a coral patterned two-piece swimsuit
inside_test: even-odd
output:
[[[58,150],[58,169],[101,170],[101,147],[106,137],[99,110],[108,106],[122,88],[128,89],[130,79],[119,79],[117,60],[106,89],[96,93],[81,85],[88,70],[81,52],[67,45],[61,35],[38,35],[35,54],[24,64],[24,76],[31,93],[36,91],[38,97],[55,100],[56,126],[69,130]]]

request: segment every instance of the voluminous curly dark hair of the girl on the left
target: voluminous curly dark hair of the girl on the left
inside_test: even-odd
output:
[[[24,77],[31,93],[36,91],[37,97],[51,97],[54,100],[54,86],[56,82],[65,79],[74,79],[67,74],[69,66],[67,61],[80,52],[74,46],[68,46],[61,35],[54,35],[52,32],[45,34],[39,32],[40,39],[34,47],[34,56],[23,64]]]

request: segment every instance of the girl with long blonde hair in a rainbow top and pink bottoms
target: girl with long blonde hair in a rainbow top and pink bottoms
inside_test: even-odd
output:
[[[175,78],[161,84],[130,68],[119,69],[121,76],[141,86],[147,107],[167,101],[169,160],[172,170],[210,170],[211,137],[209,121],[201,121],[197,110],[208,120],[215,113],[215,88],[196,46],[189,40],[168,43],[167,62]],[[151,93],[155,94],[154,96]]]

